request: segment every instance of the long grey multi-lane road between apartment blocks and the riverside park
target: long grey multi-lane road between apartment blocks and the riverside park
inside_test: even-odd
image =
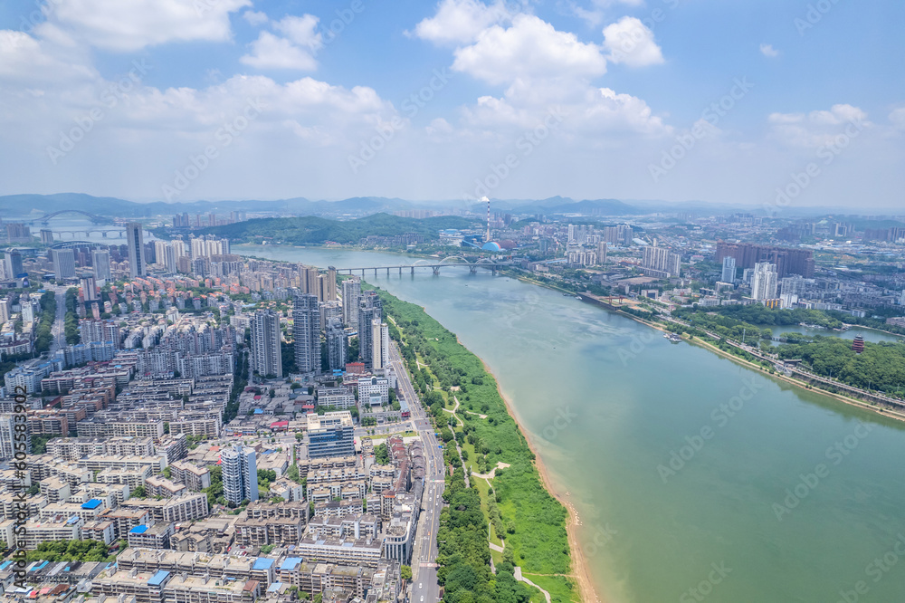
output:
[[[415,536],[412,553],[412,603],[435,603],[440,600],[440,586],[437,584],[437,531],[440,528],[440,512],[443,511],[443,450],[433,432],[424,407],[414,393],[412,381],[405,369],[405,362],[399,356],[395,342],[390,346],[390,362],[399,378],[399,388],[412,410],[412,423],[424,442],[426,471],[424,496],[421,499],[421,516]]]

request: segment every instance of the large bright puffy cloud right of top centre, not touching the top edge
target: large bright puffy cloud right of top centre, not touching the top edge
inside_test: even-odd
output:
[[[600,49],[559,32],[531,14],[519,14],[512,26],[493,25],[471,46],[455,51],[452,69],[493,84],[518,79],[592,78],[606,72]]]

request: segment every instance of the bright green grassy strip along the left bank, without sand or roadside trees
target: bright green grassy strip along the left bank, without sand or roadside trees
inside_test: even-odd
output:
[[[415,387],[433,390],[434,386],[439,386],[444,402],[450,388],[460,388],[456,394],[461,403],[457,414],[465,422],[460,430],[468,442],[465,445],[469,451],[467,463],[475,470],[480,468],[481,473],[489,471],[498,462],[510,464],[497,471],[492,486],[495,503],[506,526],[506,548],[512,551],[516,564],[531,573],[571,573],[567,511],[544,488],[534,464],[534,454],[509,415],[496,380],[484,370],[481,359],[464,348],[452,332],[422,308],[386,292],[379,293],[386,315],[392,318],[394,327],[398,327],[391,328],[391,334],[405,343],[400,348],[413,373]],[[420,369],[415,359],[424,363],[429,371]],[[449,416],[443,413],[439,401],[433,402],[432,407],[432,413],[437,416],[434,410],[439,411],[440,416]],[[481,419],[466,410],[488,418]],[[482,490],[480,482],[474,487]],[[490,501],[489,494],[481,491],[483,511],[487,511],[485,505]]]

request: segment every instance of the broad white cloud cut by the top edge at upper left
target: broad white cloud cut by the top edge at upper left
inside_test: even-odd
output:
[[[47,19],[85,43],[135,52],[169,42],[226,42],[229,14],[251,0],[54,0]]]

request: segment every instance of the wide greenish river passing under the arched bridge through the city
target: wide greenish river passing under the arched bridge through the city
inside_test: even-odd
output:
[[[905,424],[514,279],[444,268],[366,280],[424,306],[491,367],[576,507],[605,601],[905,600]]]

